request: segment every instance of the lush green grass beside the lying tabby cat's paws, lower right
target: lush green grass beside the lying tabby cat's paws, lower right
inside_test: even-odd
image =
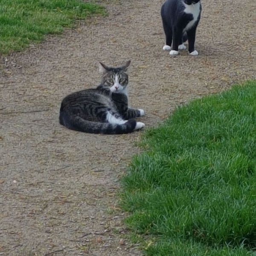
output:
[[[146,255],[253,255],[256,81],[177,108],[142,145],[121,205]]]

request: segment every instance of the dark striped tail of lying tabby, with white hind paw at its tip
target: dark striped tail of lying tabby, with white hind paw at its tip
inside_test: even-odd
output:
[[[61,125],[75,131],[82,131],[93,134],[127,134],[144,126],[135,119],[129,119],[124,124],[111,124],[108,122],[92,122],[80,116],[69,116],[60,112],[59,121]]]

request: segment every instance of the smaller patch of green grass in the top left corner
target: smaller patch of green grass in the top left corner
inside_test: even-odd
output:
[[[47,34],[60,34],[75,20],[104,9],[81,0],[1,0],[0,53],[20,51]]]

